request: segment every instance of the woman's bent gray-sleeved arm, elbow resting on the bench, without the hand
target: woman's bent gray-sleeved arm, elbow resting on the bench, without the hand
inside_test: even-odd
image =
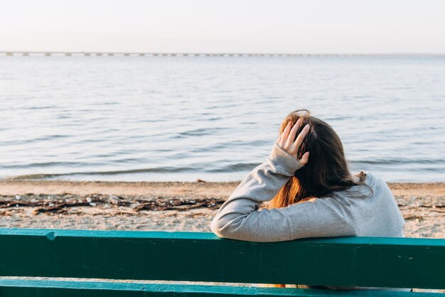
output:
[[[275,144],[267,161],[254,168],[221,205],[210,229],[219,237],[250,242],[356,236],[353,212],[333,198],[259,210],[261,202],[272,200],[301,166]]]

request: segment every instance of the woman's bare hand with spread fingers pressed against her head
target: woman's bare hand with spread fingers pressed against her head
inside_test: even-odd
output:
[[[301,143],[303,142],[304,136],[306,136],[309,131],[309,124],[306,124],[306,126],[304,126],[303,130],[301,130],[301,133],[299,134],[299,136],[296,137],[296,139],[295,135],[301,124],[301,118],[296,121],[296,124],[294,126],[291,126],[291,124],[291,121],[289,121],[282,134],[279,135],[277,144],[285,151],[290,153],[292,156],[294,156],[294,158],[296,158],[296,160],[299,161],[301,165],[306,165],[306,163],[308,163],[309,161],[309,151],[306,151],[306,153],[304,153],[300,160],[298,159],[297,153],[299,151]],[[295,139],[295,141],[293,139]]]

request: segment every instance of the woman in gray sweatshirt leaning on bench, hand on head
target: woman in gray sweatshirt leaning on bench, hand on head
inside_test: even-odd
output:
[[[210,228],[219,237],[279,242],[404,237],[403,225],[387,184],[369,172],[351,175],[336,132],[302,109],[284,119],[267,161],[242,180]]]

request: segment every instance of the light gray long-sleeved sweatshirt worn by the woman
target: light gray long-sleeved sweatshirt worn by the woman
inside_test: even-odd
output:
[[[287,207],[259,209],[301,167],[294,156],[274,144],[267,161],[254,168],[221,205],[210,229],[219,237],[251,242],[306,237],[404,237],[404,219],[390,188],[369,172],[366,185],[355,185]],[[409,288],[328,288],[409,291]]]

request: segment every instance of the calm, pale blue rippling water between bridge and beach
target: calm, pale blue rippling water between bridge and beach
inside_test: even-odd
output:
[[[309,109],[350,170],[445,181],[445,58],[0,57],[0,178],[242,180]]]

